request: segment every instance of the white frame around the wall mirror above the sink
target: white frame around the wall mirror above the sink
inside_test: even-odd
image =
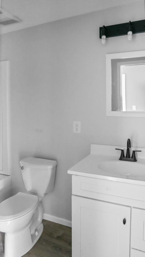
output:
[[[111,106],[112,106],[111,60],[112,59],[134,58],[134,57],[145,57],[145,51],[106,54],[106,116],[145,117],[145,112],[111,111]]]

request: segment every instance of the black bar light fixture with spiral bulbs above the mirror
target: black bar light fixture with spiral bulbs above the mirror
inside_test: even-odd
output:
[[[128,35],[128,40],[132,39],[132,34],[145,32],[145,20],[141,21],[129,21],[126,23],[104,26],[99,28],[99,37],[102,39],[102,43],[106,43],[106,38],[114,36]]]

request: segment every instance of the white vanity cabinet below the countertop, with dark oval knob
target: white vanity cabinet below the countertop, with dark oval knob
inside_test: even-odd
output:
[[[72,257],[145,257],[143,190],[72,175]]]

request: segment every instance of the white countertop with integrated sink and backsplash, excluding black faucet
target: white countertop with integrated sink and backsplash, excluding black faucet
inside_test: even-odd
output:
[[[145,186],[145,159],[143,158],[145,156],[145,148],[136,148],[136,150],[142,151],[141,158],[137,157],[137,162],[120,161],[119,157],[121,152],[115,150],[115,148],[126,149],[124,146],[92,144],[90,154],[70,168],[68,174]],[[132,149],[130,152],[132,153]],[[101,163],[106,163],[106,165],[115,163],[116,171],[103,170],[99,167]],[[123,172],[117,171],[117,167],[120,165]],[[130,169],[131,172],[128,172],[126,167],[128,167],[127,169]],[[142,171],[139,172],[141,169]]]

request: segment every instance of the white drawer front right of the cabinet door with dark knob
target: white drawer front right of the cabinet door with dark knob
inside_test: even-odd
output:
[[[145,252],[145,210],[132,208],[131,225],[131,247]]]

